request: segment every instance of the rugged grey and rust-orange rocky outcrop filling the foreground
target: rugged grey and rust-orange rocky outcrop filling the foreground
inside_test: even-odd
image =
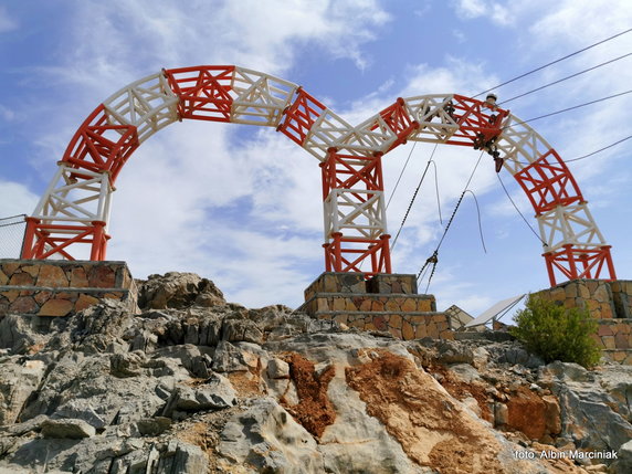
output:
[[[629,472],[629,367],[247,309],[192,274],[139,292],[3,319],[0,473]]]

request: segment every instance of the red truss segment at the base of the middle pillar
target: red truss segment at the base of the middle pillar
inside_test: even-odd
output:
[[[379,239],[346,238],[340,232],[333,235],[333,241],[323,244],[325,249],[325,268],[327,272],[358,272],[371,277],[377,273],[392,273],[389,250],[390,235]],[[368,244],[368,247],[362,247]],[[371,271],[360,270],[366,259],[371,262]]]

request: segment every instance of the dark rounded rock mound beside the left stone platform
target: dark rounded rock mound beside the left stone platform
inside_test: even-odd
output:
[[[146,282],[139,283],[138,306],[141,309],[185,308],[193,304],[213,307],[225,304],[224,295],[214,283],[194,273],[149,275]]]

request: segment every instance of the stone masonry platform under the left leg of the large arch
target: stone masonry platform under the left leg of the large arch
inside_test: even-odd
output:
[[[0,318],[66,316],[103,298],[137,312],[136,284],[125,262],[0,259]]]

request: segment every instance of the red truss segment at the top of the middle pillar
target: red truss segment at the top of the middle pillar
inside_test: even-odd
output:
[[[329,149],[327,160],[320,164],[323,170],[323,199],[329,196],[334,188],[382,191],[381,154],[373,157],[340,155],[336,148]]]

